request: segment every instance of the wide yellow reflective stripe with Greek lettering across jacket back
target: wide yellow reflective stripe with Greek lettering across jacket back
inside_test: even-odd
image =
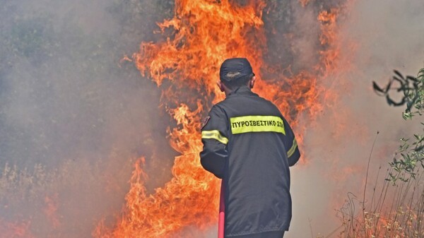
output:
[[[231,117],[232,134],[248,133],[248,132],[278,132],[283,133],[284,123],[281,117],[276,116],[244,116]]]

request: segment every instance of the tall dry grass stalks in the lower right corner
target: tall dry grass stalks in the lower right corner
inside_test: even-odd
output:
[[[394,185],[384,180],[365,201],[350,194],[338,215],[343,229],[339,238],[424,237],[424,177],[419,174]]]

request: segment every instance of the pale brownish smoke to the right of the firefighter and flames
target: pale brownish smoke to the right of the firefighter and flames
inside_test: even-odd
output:
[[[423,68],[423,3],[353,1],[348,6],[348,14],[338,20],[336,72],[321,81],[336,92],[336,102],[304,135],[302,149],[310,160],[292,169],[293,221],[287,237],[341,232],[337,210],[353,195],[362,201],[368,158],[366,201],[382,185],[399,139],[410,138],[419,128],[419,119],[404,121],[403,107],[389,107],[378,97],[372,81],[385,85],[394,69],[416,76]]]

